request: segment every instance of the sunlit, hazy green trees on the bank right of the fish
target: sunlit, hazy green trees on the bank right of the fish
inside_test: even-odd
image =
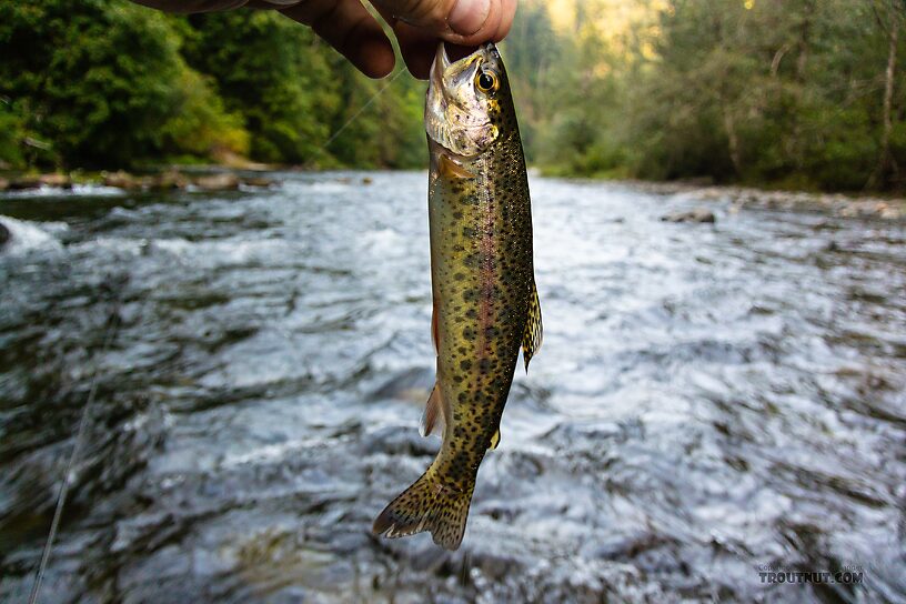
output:
[[[547,171],[906,187],[902,0],[586,0],[560,30],[551,6],[524,2],[506,42],[527,154]],[[623,36],[595,27],[627,7]]]

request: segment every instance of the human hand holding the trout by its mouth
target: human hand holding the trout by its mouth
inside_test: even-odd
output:
[[[466,47],[499,42],[509,33],[516,12],[516,0],[371,2],[393,29],[406,67],[421,79],[427,78],[437,40]],[[260,0],[250,6],[269,6],[310,26],[371,78],[393,71],[393,47],[360,0]]]

